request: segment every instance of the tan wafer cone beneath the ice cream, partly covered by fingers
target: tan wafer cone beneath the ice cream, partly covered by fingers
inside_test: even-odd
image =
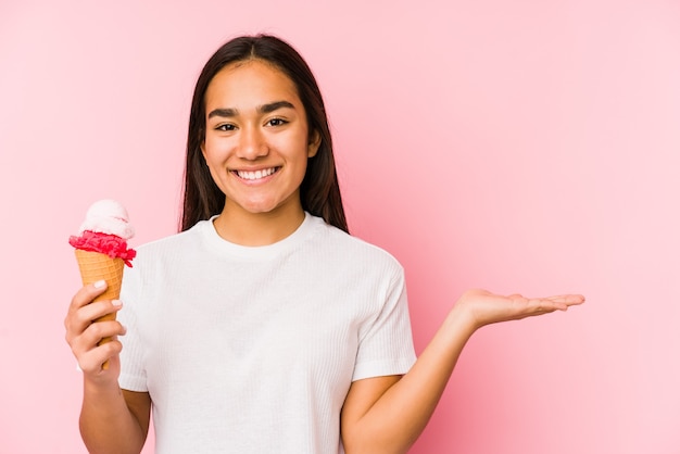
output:
[[[80,278],[83,285],[97,282],[98,280],[106,281],[106,291],[97,297],[95,301],[100,300],[117,300],[121,298],[121,283],[123,282],[123,267],[125,262],[123,258],[111,258],[106,254],[99,252],[84,251],[76,249],[76,260],[80,268]],[[98,318],[96,321],[115,320],[115,312],[106,314]],[[103,338],[98,345],[110,342],[111,338]],[[103,368],[108,368],[109,363],[103,364]]]

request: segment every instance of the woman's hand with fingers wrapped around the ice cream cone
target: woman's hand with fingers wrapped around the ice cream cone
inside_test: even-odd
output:
[[[95,321],[99,317],[116,313],[122,304],[117,300],[92,302],[106,290],[106,283],[99,281],[83,287],[71,300],[68,313],[64,319],[66,342],[86,377],[97,381],[115,380],[121,373],[118,354],[123,345],[117,336],[125,335],[125,327],[117,320]],[[98,345],[105,337],[111,342]],[[102,365],[109,362],[109,366]]]

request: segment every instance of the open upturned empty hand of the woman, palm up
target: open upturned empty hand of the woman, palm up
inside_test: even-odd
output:
[[[521,294],[507,297],[487,290],[468,290],[461,297],[454,310],[465,311],[471,317],[475,329],[499,321],[518,320],[555,311],[566,311],[581,304],[585,299],[580,294],[561,294],[545,298],[526,298]]]

